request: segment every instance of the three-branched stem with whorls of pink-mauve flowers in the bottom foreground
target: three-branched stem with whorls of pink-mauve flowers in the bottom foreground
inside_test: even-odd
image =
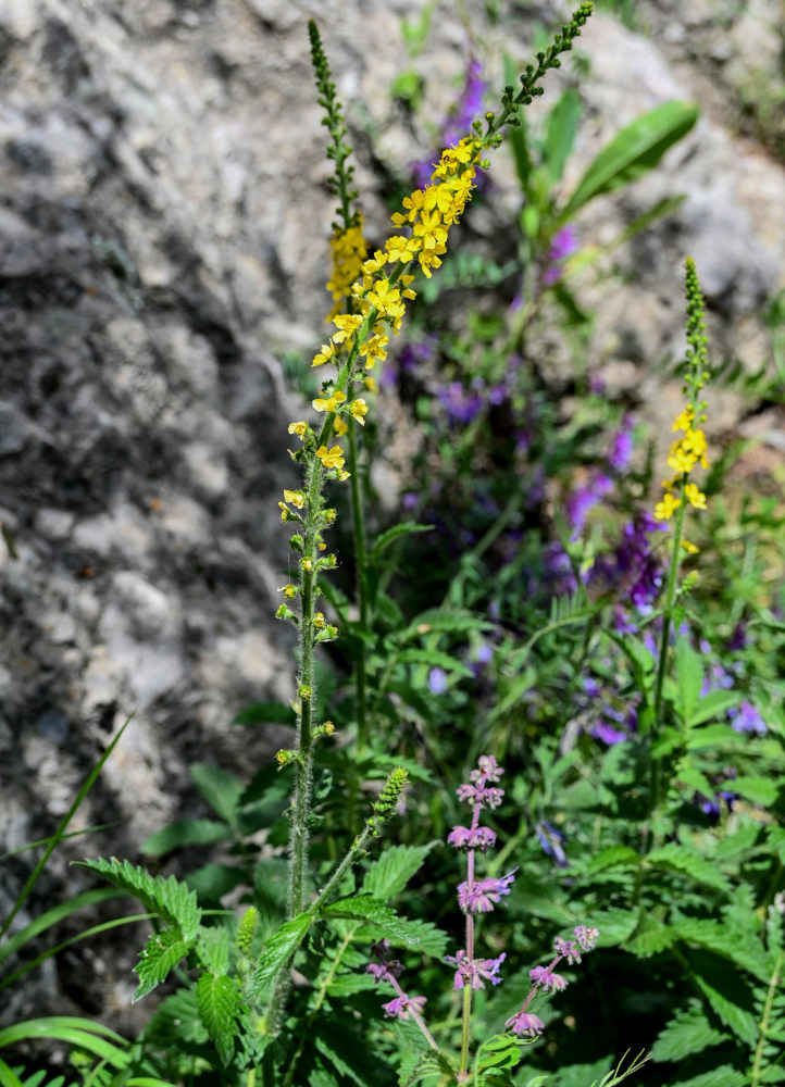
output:
[[[478,989],[484,989],[487,982],[494,986],[501,983],[499,971],[507,958],[504,951],[496,959],[478,958],[475,939],[477,915],[489,913],[503,897],[510,894],[518,871],[513,869],[507,875],[497,878],[479,878],[475,871],[476,854],[486,853],[496,845],[496,833],[488,826],[482,826],[479,821],[484,810],[493,811],[499,807],[503,799],[504,790],[498,785],[502,773],[503,769],[498,765],[493,755],[479,757],[476,767],[469,775],[469,782],[459,785],[456,790],[459,800],[469,804],[472,810],[470,825],[454,826],[447,838],[450,846],[465,853],[466,857],[466,878],[458,886],[458,904],[465,917],[464,947],[454,955],[446,955],[445,958],[445,961],[454,969],[453,988],[462,991],[461,1052],[458,1071],[452,1071],[456,1083],[464,1083],[470,1077],[472,996]],[[536,1038],[545,1029],[543,1020],[529,1012],[529,1005],[540,990],[560,992],[566,988],[566,978],[561,974],[555,974],[555,967],[562,959],[566,960],[568,963],[580,963],[582,953],[586,953],[595,947],[599,932],[596,928],[587,928],[586,925],[578,925],[573,930],[573,937],[574,939],[556,937],[553,940],[555,958],[547,966],[534,966],[529,970],[532,988],[520,1011],[504,1024],[509,1034],[516,1037]],[[388,983],[396,994],[394,1000],[382,1005],[385,1015],[400,1020],[413,1020],[428,1046],[439,1051],[438,1042],[425,1023],[423,1014],[425,998],[412,997],[402,988],[399,982],[402,966],[398,960],[390,958],[389,944],[386,940],[375,944],[372,953],[376,961],[366,966],[366,972],[373,975],[376,983]],[[452,1070],[451,1065],[448,1064],[448,1066]]]

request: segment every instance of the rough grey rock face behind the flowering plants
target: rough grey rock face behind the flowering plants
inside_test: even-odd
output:
[[[477,33],[489,71],[504,49],[528,58],[531,13],[509,7],[499,27]],[[536,7],[549,23],[555,7],[566,11]],[[724,127],[723,87],[695,55],[701,34],[719,48],[715,22],[733,22],[738,7],[643,2],[653,37],[598,13],[581,45],[593,74],[574,176],[657,102],[706,105],[663,171],[580,223],[585,240],[601,241],[660,196],[686,193],[676,216],[620,257],[623,287],[589,296],[603,304],[593,364],[626,374],[638,403],[645,378],[644,399],[668,414],[647,360],[678,350],[684,255],[701,271],[712,333],[756,364],[767,352],[761,303],[785,285],[782,162]],[[760,21],[777,4],[749,7]],[[477,32],[483,10],[468,5]],[[5,0],[0,850],[51,833],[132,711],[76,824],[119,826],[76,855],[136,860],[148,833],[202,811],[189,762],[247,773],[281,746],[275,732],[229,723],[250,701],[290,698],[294,678],[291,639],[272,619],[289,561],[277,498],[297,480],[286,423],[308,409],[287,391],[283,361],[295,352],[289,365],[307,368],[322,338],[334,202],[306,23],[322,27],[378,243],[387,218],[374,155],[394,166],[431,150],[425,128],[390,105],[390,83],[419,66],[435,122],[469,52],[464,25],[439,9],[410,62],[401,18],[420,14],[404,0]],[[713,63],[747,87],[758,54],[734,27]],[[516,191],[504,153],[489,198],[502,233]],[[730,403],[727,425],[737,421]],[[0,912],[29,855],[8,866]],[[64,878],[54,862],[42,889],[57,895]],[[75,870],[67,880],[72,892],[83,886]],[[87,987],[66,974],[43,977],[48,999],[14,990],[8,1014],[62,1010],[66,997],[90,1010]],[[124,1004],[123,985],[99,1005]]]

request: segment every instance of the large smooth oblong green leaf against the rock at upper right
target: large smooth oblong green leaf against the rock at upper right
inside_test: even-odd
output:
[[[559,221],[573,218],[589,200],[648,173],[697,120],[696,105],[664,102],[622,128],[589,164]]]

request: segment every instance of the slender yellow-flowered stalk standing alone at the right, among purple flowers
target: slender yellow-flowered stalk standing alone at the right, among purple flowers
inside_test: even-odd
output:
[[[678,567],[682,560],[682,552],[695,554],[698,548],[684,539],[684,518],[687,507],[691,505],[696,510],[706,509],[706,495],[700,490],[697,483],[691,477],[691,473],[700,465],[702,468],[709,467],[707,458],[708,441],[702,429],[706,422],[706,400],[700,397],[700,390],[709,379],[708,361],[708,338],[706,336],[706,310],[703,297],[700,290],[698,273],[693,260],[685,262],[685,293],[687,298],[687,350],[684,357],[684,387],[683,392],[687,398],[684,409],[676,415],[673,423],[673,432],[681,432],[683,437],[677,438],[668,457],[668,466],[673,470],[674,475],[663,482],[664,492],[660,501],[655,507],[655,517],[658,521],[670,521],[675,513],[675,527],[673,533],[673,544],[671,549],[671,565],[668,575],[668,588],[665,591],[664,614],[662,617],[662,637],[660,639],[660,652],[657,666],[657,680],[655,685],[655,727],[661,725],[662,716],[662,691],[668,666],[669,641],[671,624],[673,619],[673,608],[676,601],[676,589],[678,586]],[[652,761],[652,789],[650,797],[651,810],[659,801],[659,782],[657,761]]]

